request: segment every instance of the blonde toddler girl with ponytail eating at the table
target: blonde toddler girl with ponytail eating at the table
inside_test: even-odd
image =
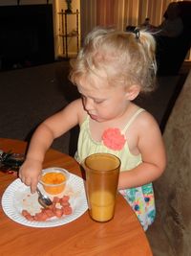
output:
[[[133,100],[154,87],[155,40],[147,32],[96,28],[71,65],[81,99],[35,130],[19,176],[34,192],[53,139],[79,125],[75,158],[80,163],[96,152],[120,158],[118,190],[146,230],[156,214],[151,182],[162,174],[166,157],[157,122]]]

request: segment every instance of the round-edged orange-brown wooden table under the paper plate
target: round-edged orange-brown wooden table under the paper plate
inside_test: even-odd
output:
[[[26,143],[0,139],[3,151],[25,152]],[[47,152],[44,168],[62,167],[80,174],[74,159],[59,151]],[[0,195],[16,178],[0,172]],[[28,227],[11,221],[0,208],[0,255],[4,256],[151,256],[151,248],[138,219],[125,199],[117,196],[116,215],[112,221],[91,220],[88,211],[80,218],[62,226]]]

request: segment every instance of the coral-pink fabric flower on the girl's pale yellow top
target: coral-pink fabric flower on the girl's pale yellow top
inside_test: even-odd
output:
[[[107,128],[102,134],[103,144],[114,151],[120,151],[125,144],[125,136],[119,128]]]

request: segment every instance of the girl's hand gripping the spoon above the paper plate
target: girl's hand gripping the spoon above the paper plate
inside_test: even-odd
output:
[[[27,186],[31,186],[31,191],[36,191],[37,183],[40,179],[42,163],[34,159],[26,159],[19,170],[19,177]]]

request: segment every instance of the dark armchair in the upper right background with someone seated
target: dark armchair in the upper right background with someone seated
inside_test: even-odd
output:
[[[191,46],[191,1],[179,1],[183,31],[177,37],[155,35],[157,40],[158,75],[177,75]],[[164,12],[167,18],[167,12]]]

